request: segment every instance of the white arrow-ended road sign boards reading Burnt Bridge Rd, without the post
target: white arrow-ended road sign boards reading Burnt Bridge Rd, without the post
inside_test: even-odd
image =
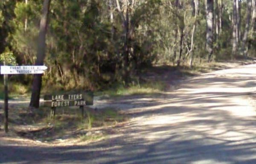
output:
[[[1,74],[43,74],[45,65],[1,66]]]

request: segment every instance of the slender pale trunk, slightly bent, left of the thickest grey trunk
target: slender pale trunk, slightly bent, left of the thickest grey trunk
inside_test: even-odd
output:
[[[196,18],[198,14],[198,0],[192,0],[192,6],[193,6],[193,14],[195,18],[195,22],[192,29],[192,35],[191,35],[191,50],[190,50],[190,59],[189,59],[189,66],[192,67],[193,65],[193,50],[194,50],[194,36],[195,36],[195,28],[196,28]]]

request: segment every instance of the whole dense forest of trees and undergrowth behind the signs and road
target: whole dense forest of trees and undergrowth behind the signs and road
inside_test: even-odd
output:
[[[34,81],[15,77],[32,90],[41,78],[44,87],[98,90],[155,64],[193,67],[255,51],[256,0],[0,1],[1,65],[48,66]]]

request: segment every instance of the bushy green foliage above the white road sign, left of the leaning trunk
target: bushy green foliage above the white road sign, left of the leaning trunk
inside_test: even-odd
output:
[[[9,33],[8,40],[15,50],[20,64],[35,63],[40,11],[41,5],[38,5],[37,1],[29,1],[28,4],[25,2],[15,4],[15,17],[11,21],[14,30]]]

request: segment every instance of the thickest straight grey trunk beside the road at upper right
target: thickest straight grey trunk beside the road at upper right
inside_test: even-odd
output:
[[[206,50],[208,52],[208,62],[212,57],[212,45],[213,45],[213,0],[206,0],[206,21],[207,21],[207,33],[206,33]]]

